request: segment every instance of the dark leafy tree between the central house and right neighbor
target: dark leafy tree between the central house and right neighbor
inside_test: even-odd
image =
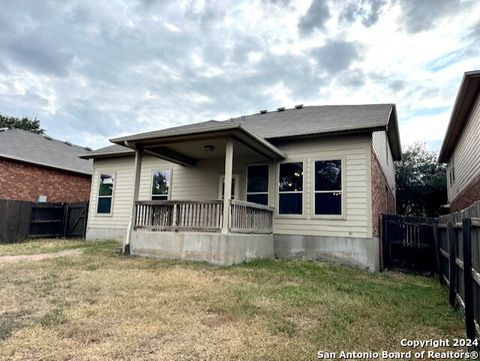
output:
[[[397,212],[404,215],[438,216],[447,203],[446,166],[437,154],[415,143],[396,162]]]

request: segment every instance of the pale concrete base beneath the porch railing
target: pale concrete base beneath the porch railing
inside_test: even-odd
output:
[[[133,255],[204,261],[228,266],[251,259],[273,258],[273,235],[204,232],[133,231]]]

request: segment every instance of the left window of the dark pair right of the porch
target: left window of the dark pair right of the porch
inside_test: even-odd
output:
[[[278,214],[303,214],[303,163],[281,163],[278,177]]]

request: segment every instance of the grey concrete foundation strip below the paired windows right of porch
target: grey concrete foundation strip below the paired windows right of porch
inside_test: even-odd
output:
[[[378,238],[274,235],[275,257],[332,261],[371,272],[380,270]]]

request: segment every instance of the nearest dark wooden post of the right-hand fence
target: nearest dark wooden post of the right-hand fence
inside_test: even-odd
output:
[[[475,339],[472,279],[472,219],[463,219],[463,284],[465,289],[465,331],[467,338]]]

